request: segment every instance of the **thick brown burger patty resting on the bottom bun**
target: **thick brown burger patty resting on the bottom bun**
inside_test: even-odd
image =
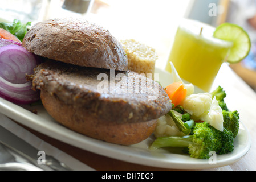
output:
[[[36,68],[33,86],[103,122],[150,121],[172,108],[164,88],[132,71],[79,67],[48,60]]]

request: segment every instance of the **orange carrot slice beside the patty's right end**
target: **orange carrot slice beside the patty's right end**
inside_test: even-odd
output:
[[[181,103],[182,100],[186,97],[186,89],[184,88],[183,82],[174,82],[166,86],[166,93],[168,94],[170,100],[177,106]]]

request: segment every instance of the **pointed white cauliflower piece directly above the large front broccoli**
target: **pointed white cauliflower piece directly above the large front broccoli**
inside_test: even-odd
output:
[[[212,100],[212,105],[208,113],[203,114],[200,118],[202,121],[208,122],[211,126],[215,127],[217,130],[223,131],[223,114],[216,97],[214,96]]]

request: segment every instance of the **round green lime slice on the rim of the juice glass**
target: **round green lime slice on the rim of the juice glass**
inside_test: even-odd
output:
[[[250,37],[242,27],[232,23],[223,23],[216,28],[214,38],[233,42],[227,62],[238,63],[245,59],[251,48]]]

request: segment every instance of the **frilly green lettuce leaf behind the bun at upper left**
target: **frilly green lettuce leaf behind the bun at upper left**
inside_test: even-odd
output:
[[[17,36],[19,40],[23,40],[25,34],[27,33],[27,30],[29,30],[29,26],[31,25],[31,22],[21,23],[20,20],[14,19],[13,23],[5,23],[0,22],[0,28],[3,28],[7,31],[9,31],[11,34]]]

